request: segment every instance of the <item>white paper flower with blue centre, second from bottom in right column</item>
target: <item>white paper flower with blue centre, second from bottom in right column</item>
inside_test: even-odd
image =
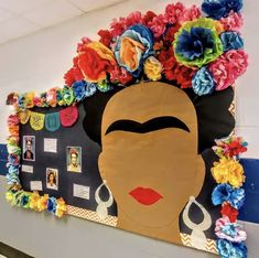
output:
[[[247,234],[238,223],[231,223],[228,217],[216,221],[215,234],[220,239],[240,243],[247,239]]]

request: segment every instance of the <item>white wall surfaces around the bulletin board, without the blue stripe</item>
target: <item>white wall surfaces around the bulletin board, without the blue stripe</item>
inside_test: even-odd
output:
[[[40,33],[0,45],[0,142],[4,143],[6,96],[12,92],[43,92],[63,85],[63,75],[71,67],[76,44],[82,36],[97,39],[112,18],[134,10],[160,12],[169,0],[129,0],[116,7],[88,13]],[[201,4],[202,0],[182,0]],[[259,3],[246,0],[244,36],[250,55],[248,73],[237,83],[237,129],[250,143],[247,157],[259,159]],[[57,13],[58,15],[58,13]],[[44,258],[60,257],[211,257],[203,252],[175,247],[141,236],[131,235],[90,222],[68,217],[57,221],[45,214],[11,208],[3,200],[4,180],[0,176],[0,241],[30,255]],[[13,211],[15,209],[15,211]],[[246,224],[251,235],[255,225]],[[259,233],[259,227],[256,230]],[[248,241],[250,256],[256,257],[256,241]]]

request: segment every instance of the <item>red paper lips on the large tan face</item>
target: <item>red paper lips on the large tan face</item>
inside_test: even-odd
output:
[[[129,194],[143,205],[152,205],[163,196],[152,189],[137,187],[129,192]]]

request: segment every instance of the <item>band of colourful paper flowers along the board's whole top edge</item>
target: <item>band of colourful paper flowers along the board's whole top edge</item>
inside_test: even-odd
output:
[[[198,96],[233,86],[248,66],[240,28],[242,1],[204,0],[202,10],[171,3],[164,13],[132,12],[100,30],[99,41],[83,37],[65,86],[9,95],[18,109],[71,106],[97,90],[139,80],[168,80]],[[203,13],[202,13],[203,12]]]

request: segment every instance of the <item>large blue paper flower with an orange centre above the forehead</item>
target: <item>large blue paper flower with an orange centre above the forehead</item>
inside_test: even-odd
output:
[[[138,77],[143,69],[143,62],[154,53],[152,32],[141,25],[132,25],[118,39],[115,57],[133,77]]]

